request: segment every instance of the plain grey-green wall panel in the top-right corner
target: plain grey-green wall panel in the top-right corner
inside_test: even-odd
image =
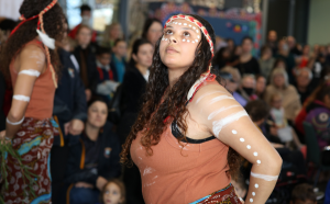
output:
[[[330,43],[330,0],[310,0],[308,44]]]

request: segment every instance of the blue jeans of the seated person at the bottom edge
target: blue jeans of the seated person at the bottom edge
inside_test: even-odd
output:
[[[74,186],[70,191],[70,204],[96,204],[99,203],[100,191]]]

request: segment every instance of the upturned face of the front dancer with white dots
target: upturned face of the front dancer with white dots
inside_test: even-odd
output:
[[[175,20],[167,24],[160,45],[163,64],[169,69],[188,69],[195,59],[195,53],[202,33],[194,23]]]

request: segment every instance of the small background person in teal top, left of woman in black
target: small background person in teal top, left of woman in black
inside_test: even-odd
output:
[[[117,39],[112,47],[111,68],[117,72],[117,81],[122,82],[127,70],[128,44],[124,39]]]

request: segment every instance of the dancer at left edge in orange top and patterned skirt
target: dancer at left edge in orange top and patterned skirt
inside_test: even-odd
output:
[[[32,178],[36,197],[26,194],[31,183],[22,179],[19,162],[10,155],[10,182],[3,196],[6,203],[51,203],[50,151],[57,133],[52,112],[59,65],[54,38],[61,41],[64,35],[64,14],[57,0],[24,0],[20,13],[23,21],[12,32],[0,59],[1,71],[10,75],[13,86],[1,139],[12,143],[22,163],[36,175]]]

